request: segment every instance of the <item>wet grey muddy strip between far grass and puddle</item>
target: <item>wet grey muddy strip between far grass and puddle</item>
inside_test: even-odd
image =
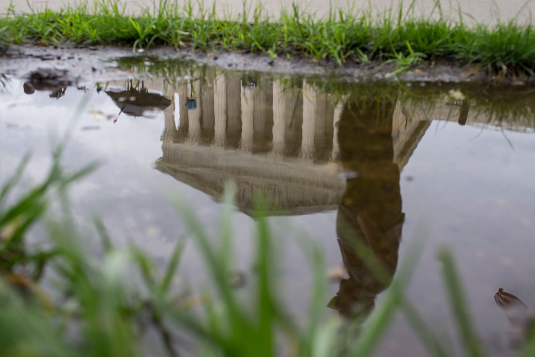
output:
[[[36,70],[55,73],[53,80],[72,85],[96,81],[120,80],[143,77],[147,73],[118,70],[115,60],[119,57],[151,56],[159,59],[194,60],[200,64],[221,67],[226,70],[266,71],[294,75],[322,75],[337,77],[348,82],[362,81],[408,81],[408,82],[458,82],[485,83],[490,86],[535,86],[529,78],[501,78],[480,70],[477,66],[462,66],[447,61],[433,66],[423,64],[410,70],[392,75],[398,67],[391,64],[346,64],[339,66],[333,62],[318,62],[315,59],[271,58],[245,52],[218,52],[206,54],[188,49],[155,48],[143,52],[133,52],[131,48],[115,47],[39,47],[25,45],[12,47],[0,55],[0,74],[27,79]]]

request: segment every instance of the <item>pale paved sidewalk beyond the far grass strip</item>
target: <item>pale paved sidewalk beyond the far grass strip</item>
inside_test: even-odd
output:
[[[158,0],[156,0],[158,1]],[[171,2],[177,2],[178,4],[186,3],[186,0],[170,0]],[[325,16],[329,10],[329,0],[297,0],[302,9],[307,10],[307,12],[315,13],[316,16],[321,17]],[[451,18],[458,19],[457,11],[457,2],[449,0],[439,0],[442,4],[443,12]],[[196,0],[192,1],[196,3]],[[257,1],[249,1],[251,4],[255,4]],[[285,7],[289,7],[291,4],[290,1],[284,0],[264,0],[265,9],[271,14],[271,16],[277,17],[280,13],[282,7],[281,3],[284,2]],[[79,3],[77,0],[0,0],[0,13],[5,13],[7,6],[13,3],[14,9],[17,12],[28,12],[31,11],[28,3],[32,5],[35,10],[42,10],[45,8],[52,10],[59,10],[62,7],[68,5],[75,5]],[[91,0],[89,0],[91,3]],[[152,6],[154,3],[153,0],[121,0],[121,3],[126,3],[126,10],[128,13],[139,12],[140,9]],[[211,0],[205,1],[205,4],[211,4]],[[237,16],[242,11],[242,0],[218,0],[216,2],[216,9],[218,13],[231,13],[234,16]],[[347,10],[349,8],[348,3],[351,1],[348,0],[330,0],[330,3],[333,4],[333,7],[339,9]],[[394,6],[397,6],[399,0],[374,0],[369,1],[355,1],[356,9],[368,9],[370,6],[373,9],[374,13],[380,13],[388,7],[391,6],[391,3],[394,3]],[[410,1],[404,2],[408,6]],[[483,22],[485,24],[495,24],[499,19],[509,20],[511,18],[517,17],[519,21],[529,21],[531,14],[535,14],[535,0],[529,2],[523,7],[526,3],[525,0],[460,0],[461,9],[464,12],[463,19],[467,22],[473,22],[470,20],[470,17],[475,19],[478,22]],[[372,5],[370,5],[372,4]],[[418,15],[424,14],[429,16],[431,10],[433,9],[434,1],[433,0],[417,0],[415,6],[415,13]],[[499,8],[497,8],[499,7]],[[518,16],[517,16],[518,14]],[[435,15],[438,15],[438,12],[435,11]],[[533,20],[532,20],[533,22]]]

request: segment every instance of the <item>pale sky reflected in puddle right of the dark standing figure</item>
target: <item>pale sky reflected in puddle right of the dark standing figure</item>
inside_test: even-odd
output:
[[[424,222],[429,237],[408,292],[427,320],[448,330],[453,323],[435,257],[441,244],[452,247],[478,328],[503,348],[510,324],[494,302],[498,288],[535,306],[535,142],[532,134],[505,134],[514,150],[493,128],[431,124],[401,174],[407,218],[400,248],[403,256],[415,225]],[[410,338],[405,326],[396,321],[391,337]]]

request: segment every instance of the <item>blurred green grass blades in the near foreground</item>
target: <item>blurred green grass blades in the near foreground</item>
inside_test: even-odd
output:
[[[29,156],[0,186],[0,354],[135,356],[150,348],[151,355],[175,356],[193,348],[195,354],[205,356],[368,356],[398,313],[407,317],[429,355],[454,354],[404,293],[421,255],[421,239],[411,241],[392,279],[362,238],[354,237],[358,258],[388,286],[373,312],[354,320],[324,316],[324,256],[313,242],[300,240],[311,267],[312,284],[309,314],[304,324],[298,324],[277,294],[276,239],[263,215],[261,199],[255,209],[256,233],[251,237],[255,269],[246,287],[246,300],[229,278],[234,269],[232,186],[225,193],[217,239],[208,236],[186,202],[175,199],[187,234],[209,274],[210,288],[196,297],[175,283],[187,240],[178,241],[166,267],[158,270],[135,246],[113,246],[96,218],[94,233],[101,245],[98,252],[88,253],[92,250],[87,242],[94,237],[74,225],[68,187],[95,170],[95,165],[68,170],[61,161],[64,150],[65,145],[53,150],[48,175],[27,192],[15,194]],[[45,215],[53,203],[59,203],[59,213]],[[47,239],[28,246],[27,237],[36,224],[44,224]],[[424,236],[425,232],[419,233],[419,237]],[[461,352],[485,355],[449,249],[438,252],[438,261],[462,341]],[[521,353],[532,355],[535,334],[528,331],[526,336]]]

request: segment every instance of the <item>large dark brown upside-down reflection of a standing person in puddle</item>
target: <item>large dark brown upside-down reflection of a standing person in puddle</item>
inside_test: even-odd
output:
[[[366,267],[355,247],[360,242],[394,275],[404,214],[401,211],[400,173],[393,162],[394,103],[349,98],[339,122],[340,159],[348,174],[339,205],[337,235],[349,278],[330,306],[340,314],[364,318],[386,286]]]

